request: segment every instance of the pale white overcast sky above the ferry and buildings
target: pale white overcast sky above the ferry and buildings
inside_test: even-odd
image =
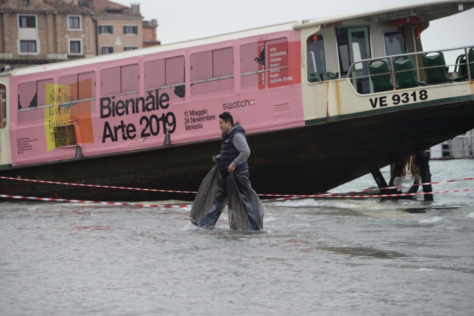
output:
[[[157,19],[162,44],[290,21],[362,12],[427,0],[113,0],[140,3],[145,20]],[[456,3],[457,1],[453,1]],[[436,20],[421,34],[423,48],[474,45],[474,9]],[[449,32],[445,28],[449,26]],[[468,28],[466,28],[468,27]]]

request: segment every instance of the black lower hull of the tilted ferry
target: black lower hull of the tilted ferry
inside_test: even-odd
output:
[[[326,192],[474,128],[474,101],[426,106],[248,134],[250,181],[257,194]],[[13,167],[0,175],[64,183],[197,191],[220,140]],[[362,188],[361,188],[362,189]],[[87,200],[193,200],[152,192],[0,180],[5,195]]]

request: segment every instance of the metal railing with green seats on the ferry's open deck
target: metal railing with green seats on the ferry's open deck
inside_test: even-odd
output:
[[[446,63],[445,55],[456,56]],[[452,71],[449,71],[452,68]],[[358,93],[474,80],[474,46],[428,50],[356,61],[347,78]]]

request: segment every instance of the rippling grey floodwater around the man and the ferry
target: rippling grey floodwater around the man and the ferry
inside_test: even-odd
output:
[[[433,181],[474,176],[430,164]],[[190,209],[0,202],[0,315],[472,315],[473,194],[265,202],[251,233],[225,214],[198,229]]]

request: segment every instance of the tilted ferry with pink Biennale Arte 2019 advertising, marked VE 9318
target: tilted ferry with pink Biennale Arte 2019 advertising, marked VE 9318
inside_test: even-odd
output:
[[[425,51],[420,35],[473,7],[431,1],[1,73],[0,192],[192,200],[11,178],[194,192],[224,111],[246,130],[258,194],[369,172],[385,184],[378,169],[474,128],[474,43]]]

